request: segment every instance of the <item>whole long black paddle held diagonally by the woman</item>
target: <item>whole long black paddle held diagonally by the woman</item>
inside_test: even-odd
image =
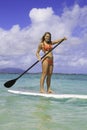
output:
[[[44,56],[41,57],[41,59],[43,59],[49,52],[51,52],[52,50],[54,50],[61,42],[63,42],[64,39],[62,39],[58,44],[56,44],[50,51],[48,51]],[[30,66],[26,71],[24,71],[21,75],[19,75],[17,78],[12,79],[7,81],[4,86],[6,88],[10,88],[11,86],[13,86],[15,84],[15,82],[21,78],[27,71],[29,71],[33,66],[35,66],[37,63],[39,62],[39,60],[37,60],[32,66]]]

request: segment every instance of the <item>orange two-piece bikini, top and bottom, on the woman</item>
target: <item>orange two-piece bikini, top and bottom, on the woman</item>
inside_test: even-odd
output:
[[[52,44],[45,44],[45,43],[43,43],[42,50],[44,52],[52,50]],[[44,58],[44,60],[46,60],[48,62],[48,65],[52,65],[53,66],[53,57],[47,56],[46,58]],[[42,61],[42,63],[43,63],[43,61]]]

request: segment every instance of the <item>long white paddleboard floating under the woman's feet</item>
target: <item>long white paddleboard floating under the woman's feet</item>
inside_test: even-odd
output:
[[[8,92],[19,95],[30,95],[30,96],[41,96],[48,98],[79,98],[79,99],[87,99],[87,95],[76,95],[76,94],[44,94],[44,93],[35,93],[35,92],[25,92],[25,91],[17,91],[17,90],[8,90]]]

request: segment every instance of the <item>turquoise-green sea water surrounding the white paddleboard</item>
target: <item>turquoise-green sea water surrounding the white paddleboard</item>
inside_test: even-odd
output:
[[[0,74],[0,130],[87,130],[87,99],[11,94],[3,84],[18,76]],[[40,76],[25,74],[9,89],[39,92]],[[53,74],[51,88],[56,94],[87,95],[87,75]]]

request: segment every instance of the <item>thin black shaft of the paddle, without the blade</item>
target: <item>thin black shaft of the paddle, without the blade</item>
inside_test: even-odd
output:
[[[50,51],[48,51],[44,56],[41,57],[41,59],[43,59],[47,54],[49,54],[51,51],[53,51],[61,42],[63,42],[64,39],[62,39],[58,44],[56,44]],[[37,60],[32,66],[30,66],[26,71],[24,71],[20,76],[18,76],[17,79],[19,79],[20,77],[22,77],[26,72],[28,72],[33,66],[35,66],[37,63],[39,62],[39,60]]]

